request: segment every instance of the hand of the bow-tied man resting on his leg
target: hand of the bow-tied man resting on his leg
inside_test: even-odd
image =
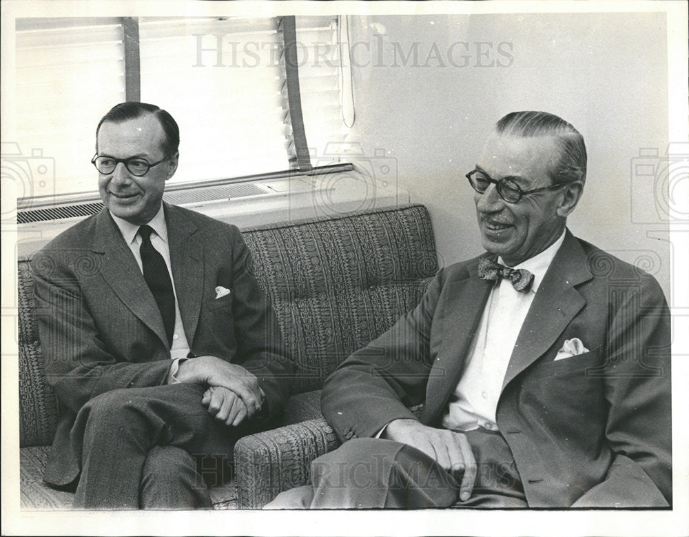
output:
[[[476,480],[476,460],[471,445],[462,433],[435,429],[411,419],[388,423],[381,438],[411,445],[433,458],[446,472],[462,472],[460,499],[469,500]]]

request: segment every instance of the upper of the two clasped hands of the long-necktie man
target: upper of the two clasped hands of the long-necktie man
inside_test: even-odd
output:
[[[229,389],[242,398],[247,407],[248,417],[256,414],[261,408],[263,390],[258,385],[256,375],[241,365],[229,363],[217,356],[196,356],[181,362],[176,377],[180,382]]]

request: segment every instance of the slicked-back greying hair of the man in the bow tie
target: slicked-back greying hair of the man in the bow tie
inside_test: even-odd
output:
[[[584,137],[570,123],[548,112],[511,112],[495,123],[495,133],[508,136],[553,136],[560,150],[553,184],[586,182],[586,145]]]

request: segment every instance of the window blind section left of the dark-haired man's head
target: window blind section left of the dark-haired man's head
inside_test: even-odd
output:
[[[17,19],[15,30],[16,142],[26,157],[17,194],[98,190],[96,125],[125,100],[121,19]]]

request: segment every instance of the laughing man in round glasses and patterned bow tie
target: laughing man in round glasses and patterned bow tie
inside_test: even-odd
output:
[[[328,378],[344,444],[267,507],[668,507],[668,307],[566,228],[584,139],[514,112],[466,177],[486,253]]]

